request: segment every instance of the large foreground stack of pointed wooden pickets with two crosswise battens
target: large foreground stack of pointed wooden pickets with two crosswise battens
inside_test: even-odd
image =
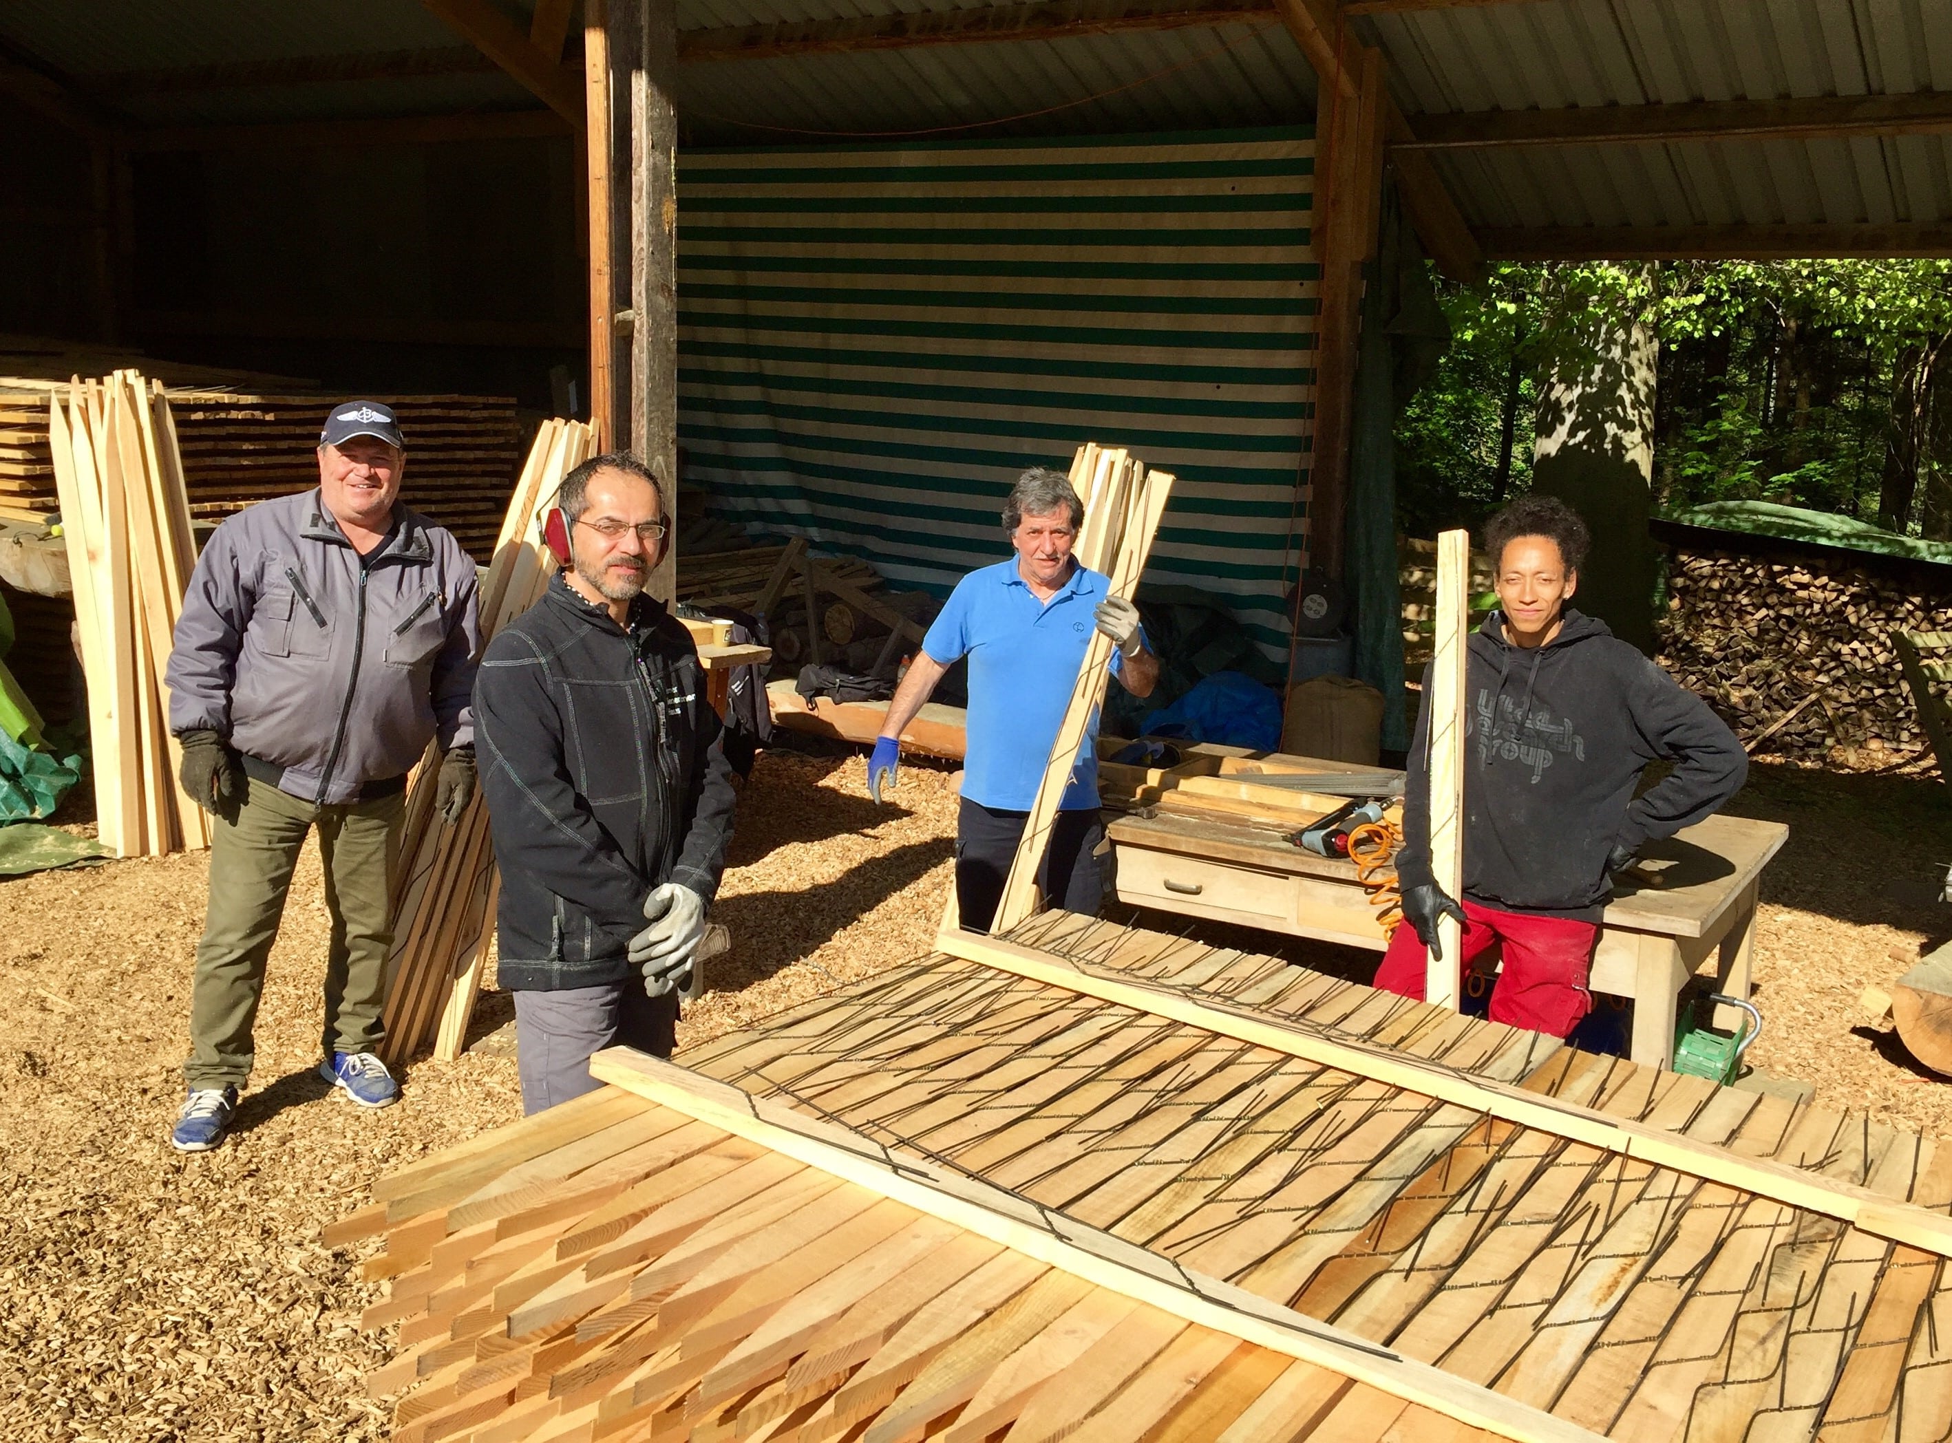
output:
[[[683,1062],[730,1090],[605,1058],[656,1107],[541,1113],[336,1230],[386,1234],[396,1437],[1952,1429],[1952,1148],[1862,1117],[1068,914]]]

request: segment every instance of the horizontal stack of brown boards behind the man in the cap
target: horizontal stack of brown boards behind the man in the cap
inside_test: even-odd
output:
[[[0,377],[0,519],[47,521],[59,508],[47,396],[64,383]],[[318,484],[326,394],[168,391],[176,408],[189,514],[221,521],[252,502]],[[519,459],[509,396],[398,396],[408,465],[402,500],[445,525],[476,558],[494,555]]]

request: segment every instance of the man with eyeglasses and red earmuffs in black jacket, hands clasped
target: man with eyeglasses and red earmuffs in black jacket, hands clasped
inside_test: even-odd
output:
[[[590,1056],[670,1056],[732,836],[732,767],[691,633],[644,586],[664,486],[632,455],[576,467],[562,570],[488,642],[474,744],[502,871],[500,984],[525,1113],[595,1090]]]

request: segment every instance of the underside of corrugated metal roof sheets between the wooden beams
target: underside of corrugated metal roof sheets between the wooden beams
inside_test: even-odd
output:
[[[533,0],[496,0],[521,21]],[[679,25],[958,10],[984,0],[681,0]],[[1952,0],[1505,0],[1355,21],[1423,113],[1952,90]],[[72,76],[453,47],[418,0],[8,0],[0,37]],[[1308,121],[1279,23],[687,64],[689,144],[890,133],[1050,135]],[[267,121],[533,103],[511,80],[142,94],[144,121]],[[1444,150],[1478,227],[1952,221],[1952,139]]]

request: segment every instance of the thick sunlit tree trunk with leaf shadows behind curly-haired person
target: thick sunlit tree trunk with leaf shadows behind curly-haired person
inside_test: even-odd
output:
[[[1622,301],[1566,338],[1538,394],[1532,490],[1579,512],[1597,545],[1575,605],[1653,652],[1653,392],[1659,342]],[[1495,564],[1495,562],[1493,562]]]

